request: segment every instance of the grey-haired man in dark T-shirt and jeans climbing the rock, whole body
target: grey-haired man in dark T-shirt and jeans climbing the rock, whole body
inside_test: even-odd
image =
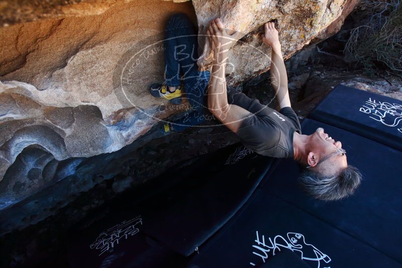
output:
[[[341,142],[335,142],[323,128],[312,135],[302,135],[298,118],[290,106],[278,32],[272,22],[264,27],[262,40],[272,48],[270,78],[279,111],[234,88],[227,91],[226,60],[229,49],[237,42],[237,33],[227,34],[219,19],[211,22],[207,35],[214,51],[213,68],[211,73],[200,72],[195,56],[197,36],[192,24],[185,15],[175,15],[169,20],[164,44],[165,81],[162,85],[152,85],[151,94],[179,104],[182,81],[192,110],[184,118],[165,124],[164,131],[181,131],[203,122],[208,87],[208,110],[236,133],[247,148],[264,156],[293,158],[302,169],[300,183],[318,199],[338,200],[352,194],[360,185],[361,174],[347,164]]]

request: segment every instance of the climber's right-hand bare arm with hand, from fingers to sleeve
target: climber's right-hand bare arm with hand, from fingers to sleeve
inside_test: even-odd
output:
[[[279,109],[290,107],[289,91],[287,89],[287,73],[282,58],[282,51],[279,43],[278,31],[273,22],[265,24],[265,32],[262,34],[262,41],[272,48],[271,53],[271,84],[276,93],[276,100]]]

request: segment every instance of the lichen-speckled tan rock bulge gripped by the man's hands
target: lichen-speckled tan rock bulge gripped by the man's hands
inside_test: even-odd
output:
[[[347,4],[349,3],[349,4]],[[347,11],[342,14],[347,4]],[[338,17],[345,18],[356,5],[354,0],[193,0],[198,20],[198,34],[205,35],[209,22],[219,16],[230,30],[243,33],[229,54],[229,61],[234,68],[227,68],[227,75],[232,83],[254,77],[268,70],[270,48],[261,42],[259,33],[262,26],[276,20],[283,58],[289,58],[294,52],[309,44],[320,34],[321,39],[333,35],[339,28],[331,27],[324,31]],[[234,31],[232,31],[234,32]],[[198,66],[209,68],[213,54],[205,38],[199,38],[203,54],[198,59]]]

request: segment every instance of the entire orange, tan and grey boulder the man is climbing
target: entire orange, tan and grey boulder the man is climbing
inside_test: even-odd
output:
[[[109,163],[109,156],[96,158],[97,162],[85,162],[86,158],[122,149],[160,119],[185,108],[169,106],[148,94],[148,86],[163,78],[161,32],[171,15],[187,14],[194,24],[198,22],[200,34],[216,17],[244,33],[230,54],[234,68],[228,68],[228,78],[236,83],[268,69],[270,49],[258,37],[264,23],[277,20],[286,59],[318,34],[320,38],[333,34],[323,29],[341,16],[349,2],[354,3],[0,2],[0,208],[63,178],[74,187],[68,193],[55,188],[59,196],[71,197],[93,187],[93,170],[98,163]],[[203,38],[199,44],[205,56],[200,66],[207,68],[211,55]],[[130,176],[138,179],[136,174]],[[116,184],[116,191],[125,183]],[[26,206],[34,207],[31,201]],[[62,201],[54,198],[51,204]]]

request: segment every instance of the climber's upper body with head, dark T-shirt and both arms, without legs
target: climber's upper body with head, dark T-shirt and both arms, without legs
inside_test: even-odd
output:
[[[208,86],[208,108],[222,123],[254,152],[276,158],[293,158],[302,168],[300,183],[314,197],[338,200],[353,194],[360,185],[358,169],[347,164],[341,142],[318,128],[302,135],[298,118],[290,106],[287,73],[282,58],[278,31],[273,22],[264,25],[262,41],[272,48],[271,84],[279,111],[231,89],[227,92],[225,66],[229,49],[237,42],[237,33],[229,35],[219,19],[207,31],[214,51]]]

